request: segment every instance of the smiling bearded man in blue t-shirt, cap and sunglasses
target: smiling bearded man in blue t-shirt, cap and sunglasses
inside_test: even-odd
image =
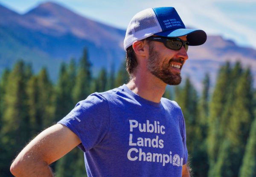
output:
[[[172,7],[136,14],[124,40],[130,82],[80,101],[20,152],[12,174],[50,177],[49,164],[79,146],[89,177],[189,177],[183,114],[162,96],[167,84],[180,83],[188,45],[206,38],[185,29]]]

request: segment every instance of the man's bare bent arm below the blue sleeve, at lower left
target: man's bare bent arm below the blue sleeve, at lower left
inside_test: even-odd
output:
[[[15,158],[15,177],[53,177],[49,164],[63,157],[81,141],[69,128],[56,124],[42,131]]]

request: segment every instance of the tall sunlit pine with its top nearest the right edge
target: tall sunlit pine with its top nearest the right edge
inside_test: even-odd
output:
[[[227,139],[230,141],[225,154],[229,164],[223,164],[223,176],[237,177],[244,155],[245,145],[249,136],[251,122],[253,121],[253,88],[252,76],[247,69],[236,78],[235,96],[232,103],[230,122],[226,125]],[[227,171],[229,174],[227,174]]]

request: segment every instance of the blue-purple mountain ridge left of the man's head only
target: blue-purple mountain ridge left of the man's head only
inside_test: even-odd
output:
[[[45,11],[49,7],[53,8],[53,11],[54,8],[58,7],[58,11],[64,12],[63,15],[54,16],[57,22],[60,21],[60,23],[56,23],[54,18],[49,20],[42,13],[37,13],[42,7]],[[8,10],[8,8],[5,9],[6,11]],[[72,14],[69,20],[65,16],[67,13]],[[8,19],[7,21],[6,18]],[[75,25],[74,21],[76,22]],[[110,68],[112,63],[120,63],[118,60],[124,57],[121,41],[125,31],[94,22],[55,3],[43,3],[27,13],[17,14],[15,17],[10,15],[10,13],[2,15],[0,17],[0,29],[4,31],[5,35],[8,34],[12,38],[10,39],[11,41],[20,43],[21,48],[27,46],[36,49],[41,53],[48,54],[51,60],[67,62],[71,57],[79,58],[81,51],[86,47],[89,51],[89,57],[93,61],[94,68],[99,70],[102,67]],[[87,36],[81,37],[81,35],[78,35],[79,32]],[[4,43],[4,41],[2,42]],[[117,50],[116,43],[119,48]],[[9,53],[12,52],[10,49],[7,50],[9,50]],[[5,56],[4,51],[2,53]],[[16,55],[14,54],[13,57],[16,57]],[[21,55],[21,58],[26,57],[24,54]],[[8,59],[10,63],[14,63],[17,60],[12,57]],[[32,60],[32,58],[29,60]],[[37,61],[35,60],[32,63],[37,63]],[[38,71],[38,69],[35,70]],[[58,74],[55,72],[54,75],[56,78]]]

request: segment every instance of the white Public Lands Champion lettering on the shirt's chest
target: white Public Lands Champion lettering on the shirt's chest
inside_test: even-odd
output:
[[[178,167],[183,165],[183,158],[180,158],[178,154],[175,154],[172,157],[172,151],[169,151],[169,154],[161,154],[154,151],[154,148],[164,148],[164,141],[160,137],[166,133],[166,128],[165,126],[161,125],[159,121],[150,123],[149,120],[146,120],[146,123],[139,123],[137,120],[129,120],[129,123],[129,146],[133,146],[127,152],[127,158],[129,160],[162,163],[163,166],[166,166],[166,164],[172,164],[173,166]],[[134,129],[138,129],[142,136],[134,138]],[[153,133],[157,135],[155,135],[153,138],[148,138],[144,137],[145,135],[143,133]],[[150,147],[152,151],[144,151],[145,149],[143,147]]]

